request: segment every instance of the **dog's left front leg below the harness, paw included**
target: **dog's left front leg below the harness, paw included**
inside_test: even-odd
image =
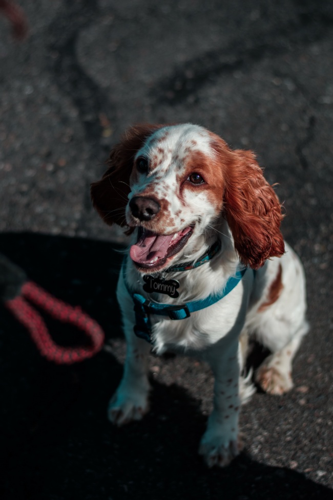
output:
[[[135,317],[132,303],[129,302],[129,307],[122,309],[127,340],[126,360],[121,382],[108,408],[109,420],[117,425],[140,420],[147,413],[150,389],[148,355],[151,345],[134,334]]]

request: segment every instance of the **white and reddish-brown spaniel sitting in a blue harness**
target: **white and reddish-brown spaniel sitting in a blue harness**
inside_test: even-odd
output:
[[[281,204],[251,151],[190,123],[133,126],[108,166],[92,201],[131,235],[117,287],[127,357],[109,419],[123,425],[148,411],[151,349],[197,356],[215,377],[199,453],[225,466],[240,451],[239,409],[255,390],[242,377],[247,339],[272,353],[256,382],[281,395],[308,330],[304,271],[280,232]]]

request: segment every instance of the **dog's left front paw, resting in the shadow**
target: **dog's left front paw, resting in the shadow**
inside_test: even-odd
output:
[[[124,392],[117,390],[108,407],[109,420],[118,426],[141,420],[149,410],[149,392]]]

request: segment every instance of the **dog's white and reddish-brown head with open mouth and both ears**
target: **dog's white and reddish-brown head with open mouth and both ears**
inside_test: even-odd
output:
[[[169,267],[221,215],[244,265],[283,254],[281,205],[251,151],[198,125],[138,125],[108,164],[91,186],[93,204],[107,224],[139,228],[130,255],[141,272]]]

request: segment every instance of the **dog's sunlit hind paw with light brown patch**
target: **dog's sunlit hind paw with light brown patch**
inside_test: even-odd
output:
[[[291,374],[281,372],[277,366],[263,364],[256,373],[256,382],[265,393],[281,396],[293,388]]]

